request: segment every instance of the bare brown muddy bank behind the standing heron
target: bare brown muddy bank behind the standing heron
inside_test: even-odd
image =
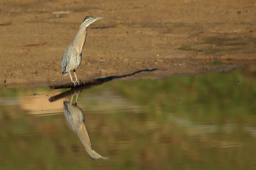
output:
[[[63,50],[84,17],[90,25],[82,80],[164,78],[256,66],[256,3],[243,0],[0,2],[0,87],[47,86],[61,74]]]

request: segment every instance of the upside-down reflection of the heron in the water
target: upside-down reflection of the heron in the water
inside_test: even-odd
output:
[[[107,157],[102,157],[101,155],[99,155],[99,153],[95,152],[92,149],[90,135],[88,134],[86,125],[84,124],[83,110],[81,110],[81,108],[79,108],[76,103],[72,104],[72,99],[71,103],[67,99],[63,101],[63,109],[68,127],[77,134],[90,157],[93,160],[108,159]]]

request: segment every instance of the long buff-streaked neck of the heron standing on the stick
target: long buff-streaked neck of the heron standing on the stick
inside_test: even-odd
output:
[[[75,48],[77,48],[77,52],[79,55],[81,55],[81,53],[83,52],[84,43],[86,40],[86,30],[87,25],[81,25],[79,31],[77,32],[76,38],[73,41],[73,45]]]

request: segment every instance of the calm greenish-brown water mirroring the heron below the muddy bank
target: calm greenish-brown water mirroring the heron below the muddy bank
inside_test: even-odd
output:
[[[256,167],[255,71],[61,92],[0,89],[0,169]]]

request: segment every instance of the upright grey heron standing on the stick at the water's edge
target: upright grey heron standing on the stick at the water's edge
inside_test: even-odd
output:
[[[76,38],[74,39],[73,43],[67,46],[65,51],[62,55],[62,74],[67,75],[69,74],[71,81],[74,85],[79,85],[79,81],[77,80],[76,76],[76,69],[81,64],[82,60],[82,52],[84,48],[84,43],[86,41],[86,31],[89,25],[91,25],[96,20],[102,19],[102,17],[92,17],[87,16],[84,18],[83,23],[79,27],[79,31],[76,34]],[[71,71],[74,72],[76,77],[76,81],[73,81],[71,76]]]

